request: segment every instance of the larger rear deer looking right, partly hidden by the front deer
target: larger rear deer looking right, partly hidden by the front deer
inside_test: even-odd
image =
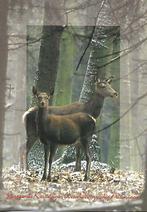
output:
[[[90,99],[85,103],[74,102],[72,104],[64,106],[48,106],[48,113],[55,115],[67,115],[77,112],[84,112],[97,119],[100,115],[101,109],[106,97],[117,98],[118,93],[111,87],[112,78],[98,79],[95,82],[95,91]],[[25,123],[27,142],[26,146],[26,158],[32,146],[34,145],[37,135],[36,115],[38,113],[38,107],[31,107],[23,114],[23,122]],[[25,148],[24,148],[25,149]],[[76,146],[76,167],[75,170],[80,170],[79,162],[80,149]],[[28,169],[28,163],[26,159],[26,168]]]

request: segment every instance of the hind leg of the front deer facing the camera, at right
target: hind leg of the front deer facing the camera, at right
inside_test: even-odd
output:
[[[89,145],[88,145],[87,139],[82,140],[82,147],[86,155],[86,173],[84,177],[84,180],[86,181],[90,177],[90,165],[91,165],[91,158],[90,158]]]

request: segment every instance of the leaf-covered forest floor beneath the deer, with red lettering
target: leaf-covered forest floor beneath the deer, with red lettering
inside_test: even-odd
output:
[[[98,205],[120,200],[138,200],[143,192],[143,173],[134,171],[92,170],[85,182],[84,171],[71,168],[52,170],[52,182],[42,182],[40,173],[4,169],[1,204],[39,208],[65,208]]]

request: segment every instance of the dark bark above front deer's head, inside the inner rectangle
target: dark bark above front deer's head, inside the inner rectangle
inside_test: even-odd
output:
[[[37,88],[48,94],[54,90],[57,77],[62,26],[43,26],[40,46]]]

